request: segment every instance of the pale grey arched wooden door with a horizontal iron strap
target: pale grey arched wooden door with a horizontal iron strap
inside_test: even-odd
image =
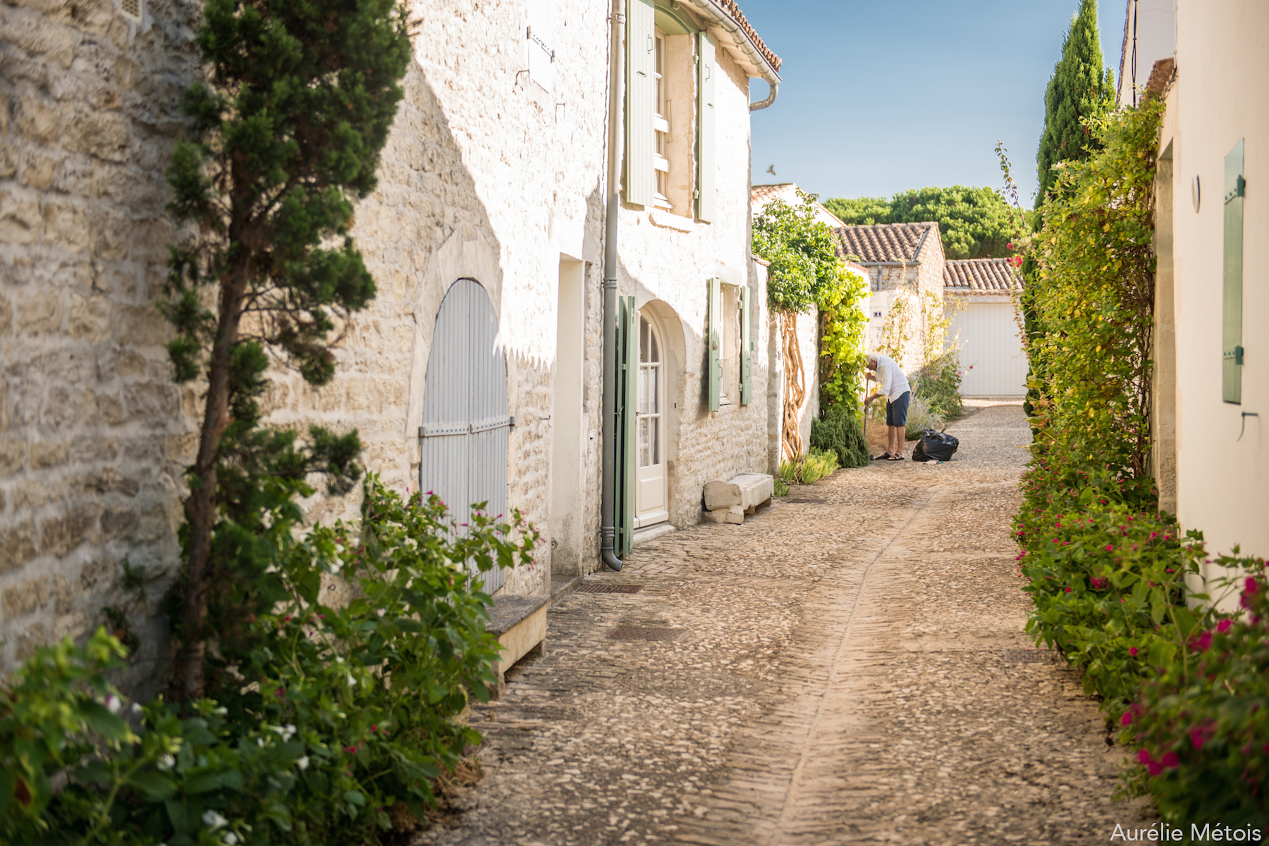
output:
[[[440,303],[423,387],[419,490],[433,491],[462,524],[472,505],[506,512],[506,355],[485,288],[459,279]],[[501,569],[485,573],[485,591],[501,587]]]

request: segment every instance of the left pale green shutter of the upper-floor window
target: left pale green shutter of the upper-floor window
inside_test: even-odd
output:
[[[651,205],[656,193],[652,170],[655,74],[656,6],[652,0],[627,0],[624,199],[637,205]]]

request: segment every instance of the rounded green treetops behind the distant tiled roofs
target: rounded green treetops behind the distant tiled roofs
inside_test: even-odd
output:
[[[824,202],[843,223],[939,225],[948,259],[997,259],[1010,255],[1009,207],[990,188],[920,188],[879,197],[832,198]]]

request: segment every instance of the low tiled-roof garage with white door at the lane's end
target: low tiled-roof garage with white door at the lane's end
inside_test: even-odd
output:
[[[954,306],[948,337],[959,336],[963,396],[1027,393],[1027,354],[1015,308],[1022,288],[1022,274],[1009,259],[944,263],[943,296]]]

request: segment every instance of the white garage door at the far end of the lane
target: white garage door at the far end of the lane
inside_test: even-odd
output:
[[[1018,337],[1013,303],[971,302],[952,321],[950,331],[956,330],[961,330],[962,396],[1027,393],[1027,355]]]

